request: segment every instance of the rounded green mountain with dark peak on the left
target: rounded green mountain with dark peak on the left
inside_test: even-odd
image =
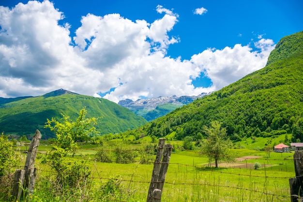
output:
[[[0,131],[5,135],[21,136],[34,134],[39,129],[43,139],[54,137],[49,129],[44,128],[46,119],[56,117],[60,120],[63,113],[76,120],[83,107],[86,107],[88,118],[100,117],[96,126],[100,134],[119,133],[147,123],[142,117],[109,100],[60,89],[42,96],[0,104]]]

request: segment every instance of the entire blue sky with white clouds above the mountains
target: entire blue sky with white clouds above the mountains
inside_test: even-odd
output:
[[[220,90],[303,31],[302,0],[0,0],[0,97]]]

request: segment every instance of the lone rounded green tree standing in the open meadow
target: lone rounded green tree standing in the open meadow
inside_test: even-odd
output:
[[[233,161],[229,145],[232,142],[227,138],[226,128],[221,127],[218,121],[212,121],[209,127],[204,126],[204,132],[207,139],[201,141],[201,154],[207,155],[209,162],[215,161],[215,167],[218,167],[218,161]]]

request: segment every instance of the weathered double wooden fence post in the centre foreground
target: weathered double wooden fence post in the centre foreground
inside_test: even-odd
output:
[[[162,189],[172,151],[171,144],[165,144],[165,139],[159,139],[158,151],[153,164],[152,180],[148,191],[147,202],[161,202]]]

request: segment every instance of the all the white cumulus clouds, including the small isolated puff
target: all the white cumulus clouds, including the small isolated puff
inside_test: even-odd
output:
[[[202,9],[202,8],[201,8]],[[197,10],[197,14],[207,10]],[[119,14],[81,19],[75,37],[70,25],[60,25],[63,13],[50,1],[29,1],[14,8],[0,6],[0,97],[41,95],[57,89],[118,102],[140,96],[197,95],[218,90],[262,68],[273,41],[207,49],[191,60],[167,56],[179,43],[168,32],[178,23],[172,10],[153,22],[132,21]],[[195,87],[192,79],[205,74],[213,85]]]

